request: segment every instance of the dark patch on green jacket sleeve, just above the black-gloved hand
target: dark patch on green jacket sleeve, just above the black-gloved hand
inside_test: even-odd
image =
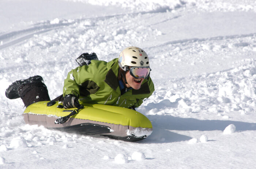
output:
[[[94,94],[99,90],[99,86],[92,80],[87,80],[82,83],[82,87],[79,87],[79,93],[82,96]]]

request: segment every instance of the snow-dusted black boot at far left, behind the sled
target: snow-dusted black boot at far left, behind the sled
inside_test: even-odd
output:
[[[20,89],[25,86],[28,83],[32,82],[42,82],[43,78],[39,75],[32,76],[28,79],[23,79],[23,80],[17,80],[13,82],[5,91],[5,96],[8,99],[17,99],[20,98]]]

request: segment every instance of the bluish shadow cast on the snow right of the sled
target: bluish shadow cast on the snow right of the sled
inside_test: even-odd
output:
[[[174,133],[169,130],[180,131],[223,131],[228,125],[234,124],[236,131],[256,130],[256,123],[230,120],[198,120],[194,118],[180,118],[171,115],[147,115],[152,122],[153,133],[142,142],[163,143],[187,141],[192,137]]]

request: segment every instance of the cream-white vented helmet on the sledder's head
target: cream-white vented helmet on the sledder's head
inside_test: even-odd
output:
[[[119,55],[118,65],[124,71],[131,67],[149,67],[149,59],[144,50],[138,47],[125,48]]]

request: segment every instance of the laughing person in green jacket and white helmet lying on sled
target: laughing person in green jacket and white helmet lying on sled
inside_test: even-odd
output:
[[[138,47],[125,48],[119,58],[110,62],[91,60],[68,73],[64,80],[65,109],[80,107],[80,103],[97,103],[135,109],[154,91],[150,78],[149,59]],[[18,80],[5,92],[7,98],[21,97],[25,106],[50,100],[41,76]]]

